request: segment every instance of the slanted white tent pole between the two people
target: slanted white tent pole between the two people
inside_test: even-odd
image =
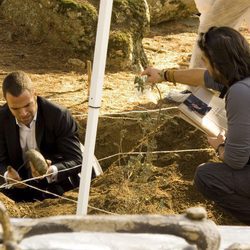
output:
[[[79,186],[77,215],[86,215],[89,200],[91,172],[94,159],[96,131],[102,99],[102,85],[107,57],[108,38],[113,0],[101,0],[97,24],[93,71],[90,85],[88,120]]]

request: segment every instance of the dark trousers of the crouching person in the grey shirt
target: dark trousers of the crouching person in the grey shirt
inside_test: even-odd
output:
[[[250,225],[250,166],[235,170],[224,163],[204,163],[197,168],[194,183],[206,198]]]

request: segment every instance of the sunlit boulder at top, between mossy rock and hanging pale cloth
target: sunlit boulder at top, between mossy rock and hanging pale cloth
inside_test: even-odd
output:
[[[198,12],[194,0],[147,0],[147,2],[151,24],[178,20]]]

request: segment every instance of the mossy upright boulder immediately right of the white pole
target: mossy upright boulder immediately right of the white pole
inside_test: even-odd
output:
[[[108,64],[113,68],[141,70],[148,64],[142,39],[149,30],[146,0],[114,0],[108,48]]]

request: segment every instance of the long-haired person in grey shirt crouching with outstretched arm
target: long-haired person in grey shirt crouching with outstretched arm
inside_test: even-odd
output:
[[[147,68],[148,81],[205,86],[225,97],[228,131],[208,138],[220,163],[204,163],[194,183],[207,198],[250,224],[250,47],[229,27],[211,27],[199,35],[198,46],[206,69],[168,70]]]

